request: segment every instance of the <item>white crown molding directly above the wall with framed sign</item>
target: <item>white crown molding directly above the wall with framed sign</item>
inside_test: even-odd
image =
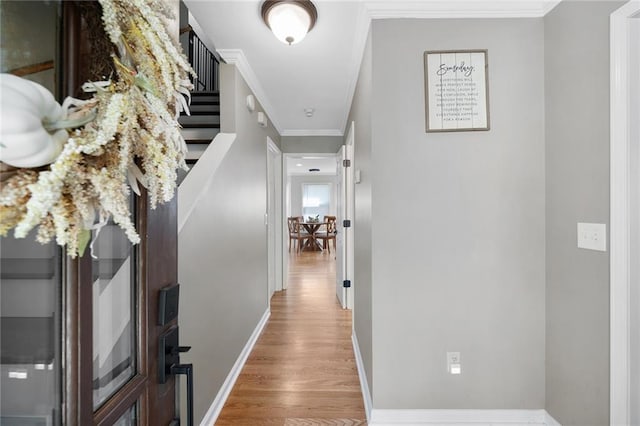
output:
[[[540,18],[560,0],[365,1],[371,19]]]

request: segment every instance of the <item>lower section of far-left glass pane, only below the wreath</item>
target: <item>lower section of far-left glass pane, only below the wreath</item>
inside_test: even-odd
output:
[[[60,424],[60,250],[32,233],[0,255],[0,424]]]

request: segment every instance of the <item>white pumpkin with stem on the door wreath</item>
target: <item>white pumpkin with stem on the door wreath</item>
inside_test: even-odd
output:
[[[62,107],[47,89],[12,74],[0,74],[0,161],[40,167],[60,155],[69,135],[45,125],[63,119]]]

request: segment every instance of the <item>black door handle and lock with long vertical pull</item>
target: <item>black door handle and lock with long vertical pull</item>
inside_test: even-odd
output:
[[[193,426],[193,364],[181,364],[180,353],[190,349],[191,346],[178,345],[178,327],[159,337],[158,383],[166,383],[172,375],[187,376],[187,426]]]

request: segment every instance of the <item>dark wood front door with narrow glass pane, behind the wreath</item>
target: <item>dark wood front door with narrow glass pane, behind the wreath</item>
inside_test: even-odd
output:
[[[95,38],[92,28],[100,20],[85,2],[65,1],[61,7],[61,93],[77,96],[87,78],[100,78],[91,76],[94,64],[86,55],[95,49],[87,43]],[[177,197],[153,210],[144,192],[131,197],[141,243],[131,245],[109,223],[93,232],[91,249],[67,262],[66,425],[165,426],[178,417],[174,376],[158,381],[159,337],[177,327],[176,319],[158,325],[160,289],[178,278]]]

